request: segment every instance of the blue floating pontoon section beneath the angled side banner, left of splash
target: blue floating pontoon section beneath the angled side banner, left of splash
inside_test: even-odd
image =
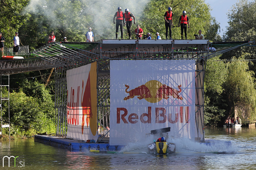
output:
[[[34,141],[51,145],[54,147],[62,147],[71,151],[85,151],[85,150],[106,150],[119,151],[123,149],[124,145],[109,145],[109,143],[86,143],[85,141],[78,141],[74,139],[66,139],[62,137],[35,135]]]

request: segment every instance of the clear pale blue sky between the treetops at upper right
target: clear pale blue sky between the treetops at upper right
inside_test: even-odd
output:
[[[205,3],[211,6],[212,17],[215,17],[216,21],[220,23],[221,36],[226,32],[226,27],[228,26],[227,13],[236,2],[238,0],[205,0]],[[252,2],[252,0],[248,0],[248,2]]]

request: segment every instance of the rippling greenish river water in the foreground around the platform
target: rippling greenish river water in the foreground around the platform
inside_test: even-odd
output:
[[[256,168],[256,128],[206,128],[206,138],[232,141],[232,147],[205,147],[188,141],[176,141],[176,154],[143,153],[140,146],[130,146],[133,154],[100,154],[70,150],[34,142],[34,139],[0,142],[0,169],[24,170],[230,170]],[[184,147],[186,146],[186,147]],[[129,147],[129,146],[128,146]],[[135,149],[134,149],[135,148]],[[223,150],[225,152],[223,152]],[[18,156],[14,167],[14,158]]]

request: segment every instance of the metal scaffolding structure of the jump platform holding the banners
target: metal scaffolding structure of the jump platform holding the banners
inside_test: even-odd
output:
[[[109,127],[111,60],[195,60],[196,129],[204,139],[204,73],[207,59],[252,43],[242,43],[216,53],[208,40],[111,40],[94,43],[55,42],[33,51],[33,59],[0,61],[0,74],[17,74],[55,68],[56,134],[66,136],[66,71],[97,61],[98,123]],[[200,133],[202,133],[201,136]]]

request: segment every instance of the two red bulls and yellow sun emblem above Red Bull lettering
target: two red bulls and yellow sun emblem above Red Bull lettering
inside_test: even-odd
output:
[[[181,85],[178,86],[178,90],[167,86],[166,84],[162,84],[157,80],[150,80],[146,82],[146,84],[138,86],[130,91],[128,91],[129,86],[125,85],[125,92],[129,95],[124,98],[124,100],[128,100],[138,96],[139,100],[145,99],[150,103],[159,102],[162,99],[168,99],[170,96],[173,98],[177,98],[179,100],[183,100],[182,96],[179,95],[181,90]]]

